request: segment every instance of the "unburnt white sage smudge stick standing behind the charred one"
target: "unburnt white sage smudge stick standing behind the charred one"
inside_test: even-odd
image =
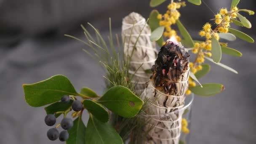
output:
[[[131,82],[135,84],[134,88],[137,94],[144,91],[145,83],[148,82],[151,75],[145,70],[151,69],[158,53],[155,42],[150,41],[150,35],[151,29],[139,13],[132,12],[123,19],[124,54],[125,57],[130,56],[129,74],[134,74]]]

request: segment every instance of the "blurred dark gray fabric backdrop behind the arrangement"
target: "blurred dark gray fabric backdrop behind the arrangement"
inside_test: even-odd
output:
[[[214,13],[231,3],[204,1]],[[166,4],[157,9],[166,11]],[[241,0],[238,7],[255,11],[256,1]],[[104,70],[82,51],[83,43],[64,34],[84,38],[80,24],[90,22],[106,38],[109,17],[114,33],[120,34],[124,16],[135,11],[147,18],[152,9],[149,0],[0,0],[0,144],[61,144],[47,139],[44,109],[26,104],[21,85],[62,74],[75,88],[86,86],[101,94]],[[197,32],[213,18],[205,4],[187,3],[181,15],[195,39],[200,39]],[[239,29],[256,39],[256,16],[244,15],[253,27]],[[213,97],[195,97],[189,144],[256,144],[255,44],[238,39],[229,47],[243,57],[223,54],[221,62],[239,74],[211,64],[202,83],[222,83],[226,90]]]

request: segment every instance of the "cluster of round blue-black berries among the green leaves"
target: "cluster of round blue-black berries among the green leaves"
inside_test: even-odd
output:
[[[62,96],[61,97],[61,102],[64,104],[68,104],[70,101],[69,96]],[[79,112],[80,110],[83,109],[83,104],[81,101],[74,100],[72,103],[72,109],[75,112]],[[70,109],[71,110],[71,109]],[[49,114],[45,116],[45,124],[48,126],[53,126],[56,123],[56,117],[54,114]],[[61,125],[61,128],[64,130],[59,133],[57,128]],[[66,113],[64,113],[64,118],[61,120],[61,123],[57,125],[55,128],[51,128],[47,131],[47,137],[51,141],[54,141],[59,138],[60,141],[67,141],[69,138],[69,133],[67,130],[73,127],[73,120],[71,118],[66,117]]]

